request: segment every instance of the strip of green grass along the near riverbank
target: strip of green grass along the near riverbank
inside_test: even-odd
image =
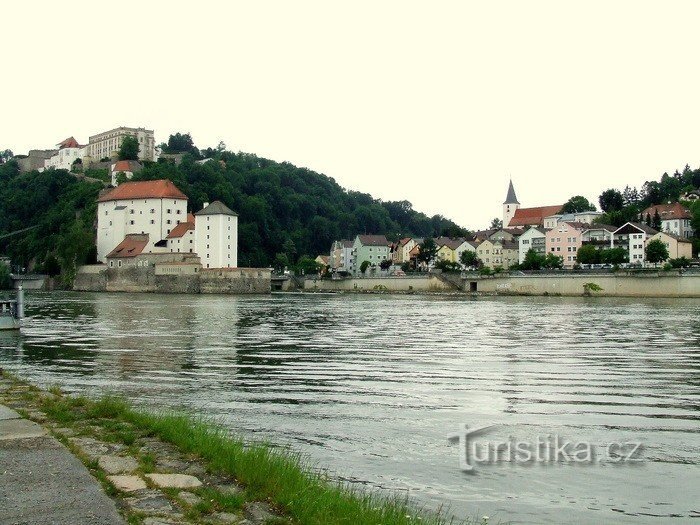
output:
[[[8,376],[5,374],[5,377]],[[269,521],[270,524],[457,523],[423,512],[398,496],[386,497],[335,482],[299,453],[264,443],[244,442],[201,418],[148,412],[113,397],[94,400],[66,396],[57,389],[45,393],[28,387],[22,395],[31,398],[49,422],[61,427],[98,429],[104,431],[103,437],[107,436],[109,441],[127,447],[144,437],[156,438],[197,458],[208,473],[233,478],[240,484],[243,490],[235,496],[216,491],[202,493],[205,505],[194,506],[189,512],[189,518],[195,523],[199,523],[198,517],[206,517],[207,510],[211,510],[207,505],[230,512],[247,501],[268,502],[282,516]],[[148,458],[141,457],[140,461],[148,470]],[[104,476],[97,477],[108,488]],[[138,516],[130,517],[130,522],[139,523]]]

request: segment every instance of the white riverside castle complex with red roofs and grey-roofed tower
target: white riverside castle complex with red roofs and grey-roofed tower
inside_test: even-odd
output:
[[[188,214],[187,196],[172,181],[153,180],[125,182],[97,202],[98,261],[106,263],[110,256],[193,253],[204,268],[238,265],[238,216],[219,201]],[[132,242],[134,236],[138,243]]]

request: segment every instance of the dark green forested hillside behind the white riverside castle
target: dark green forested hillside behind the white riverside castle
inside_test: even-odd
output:
[[[239,264],[268,266],[275,255],[297,257],[328,253],[332,241],[358,233],[462,235],[466,231],[436,215],[413,210],[406,201],[382,202],[348,191],[333,179],[248,153],[207,150],[212,158],[198,163],[198,150],[182,163],[146,163],[134,180],[171,179],[189,198],[190,211],[206,201],[221,200],[239,214]],[[0,164],[0,236],[28,226],[30,232],[0,240],[0,255],[13,262],[41,266],[53,256],[61,268],[94,260],[95,199],[99,183],[78,180],[61,170],[20,174],[14,161]],[[287,246],[283,250],[283,246]],[[52,255],[49,255],[52,254]],[[42,268],[40,268],[42,269]]]

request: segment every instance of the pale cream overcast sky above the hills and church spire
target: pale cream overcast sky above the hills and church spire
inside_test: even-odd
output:
[[[0,148],[119,125],[476,228],[698,166],[700,2],[3,5]]]

